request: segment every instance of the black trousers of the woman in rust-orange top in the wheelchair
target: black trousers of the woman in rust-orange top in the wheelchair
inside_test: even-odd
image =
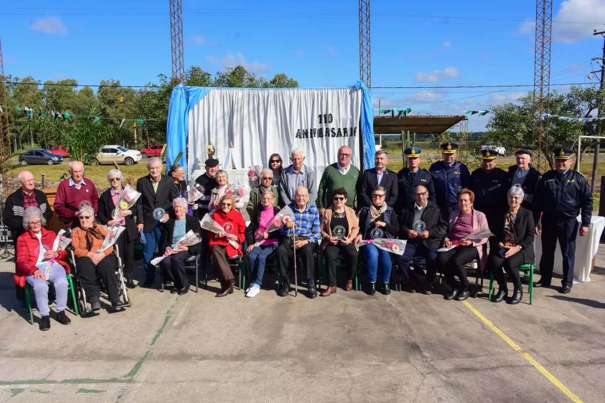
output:
[[[88,256],[78,257],[76,259],[77,274],[80,277],[80,283],[82,283],[89,301],[91,297],[98,298],[100,295],[99,285],[97,284],[97,274],[99,274],[101,280],[103,280],[103,284],[105,284],[110,301],[119,298],[117,292],[116,265],[117,259],[113,254],[103,257],[96,266]]]

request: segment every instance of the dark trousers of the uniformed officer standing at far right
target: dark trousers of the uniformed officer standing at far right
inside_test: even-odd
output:
[[[575,239],[578,236],[580,223],[575,218],[566,221],[549,221],[542,219],[542,257],[540,259],[540,283],[551,285],[552,267],[555,264],[557,240],[563,255],[563,280],[561,285],[574,284]]]

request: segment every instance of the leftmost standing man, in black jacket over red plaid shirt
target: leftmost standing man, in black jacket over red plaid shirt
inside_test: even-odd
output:
[[[17,238],[25,232],[23,228],[25,208],[39,207],[47,222],[53,217],[53,210],[48,205],[46,195],[41,190],[34,188],[36,179],[34,179],[33,173],[21,171],[17,175],[17,180],[21,184],[21,189],[17,189],[8,195],[4,204],[4,224],[10,230],[15,248],[17,247]]]

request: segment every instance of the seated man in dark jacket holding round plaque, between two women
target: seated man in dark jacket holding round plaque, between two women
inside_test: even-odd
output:
[[[424,274],[422,269],[410,271],[410,260],[414,256],[424,256],[427,262],[427,276],[424,282],[424,293],[431,294],[435,271],[433,262],[437,257],[437,248],[448,230],[448,223],[443,219],[439,207],[429,201],[430,194],[426,187],[420,185],[414,189],[416,202],[403,208],[397,214],[399,219],[399,238],[407,240],[402,256],[395,255],[397,266],[410,280],[408,290],[416,292],[417,274]]]

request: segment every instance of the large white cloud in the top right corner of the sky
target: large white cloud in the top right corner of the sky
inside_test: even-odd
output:
[[[597,21],[605,21],[605,1],[565,0],[553,19],[552,39],[563,44],[575,44],[592,36],[595,28],[601,27]],[[595,22],[595,24],[570,24],[570,22]]]

